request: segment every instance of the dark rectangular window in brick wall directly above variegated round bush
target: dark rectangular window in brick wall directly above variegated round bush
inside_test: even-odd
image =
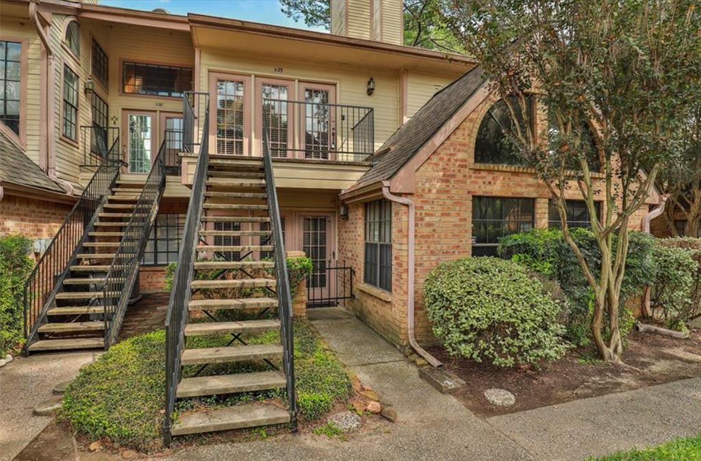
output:
[[[472,256],[496,256],[499,239],[533,228],[532,198],[472,198]]]

